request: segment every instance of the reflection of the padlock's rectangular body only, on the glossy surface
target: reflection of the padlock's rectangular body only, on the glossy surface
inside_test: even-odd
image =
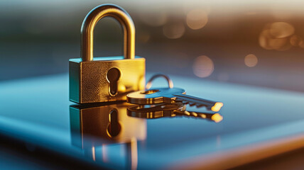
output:
[[[92,147],[146,139],[146,120],[126,114],[128,103],[112,105],[70,106],[72,144]]]

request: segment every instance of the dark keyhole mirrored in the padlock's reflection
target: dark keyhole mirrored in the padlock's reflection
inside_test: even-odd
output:
[[[110,123],[107,128],[108,135],[109,137],[116,137],[121,131],[121,126],[118,121],[118,112],[116,111],[116,109],[113,109],[109,114],[109,122]]]

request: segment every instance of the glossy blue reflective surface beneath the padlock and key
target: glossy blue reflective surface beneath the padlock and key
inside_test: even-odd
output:
[[[188,89],[190,95],[222,101],[223,120],[214,123],[187,117],[139,118],[146,122],[139,123],[146,125],[141,140],[135,136],[129,142],[110,140],[111,143],[93,142],[90,147],[78,147],[73,145],[75,133],[71,134],[68,75],[61,74],[1,82],[1,133],[104,167],[153,169],[186,164],[200,157],[212,158],[215,153],[289,139],[286,137],[304,132],[304,94],[185,77],[171,79],[175,86]],[[137,130],[135,123],[132,127]],[[137,159],[131,154],[135,152]]]

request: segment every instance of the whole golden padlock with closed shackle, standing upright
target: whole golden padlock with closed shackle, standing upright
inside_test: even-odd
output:
[[[94,26],[112,16],[124,28],[124,56],[94,57]],[[125,101],[126,94],[144,89],[146,60],[135,56],[135,27],[123,8],[104,4],[92,9],[82,23],[81,58],[70,59],[70,101]]]

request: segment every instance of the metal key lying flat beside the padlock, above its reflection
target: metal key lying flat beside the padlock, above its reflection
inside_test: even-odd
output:
[[[197,108],[205,106],[208,110],[215,112],[219,111],[223,106],[222,102],[208,101],[203,98],[186,95],[184,89],[175,87],[135,91],[126,95],[126,101],[139,105],[176,103],[181,101],[188,103],[190,106],[197,106]]]

